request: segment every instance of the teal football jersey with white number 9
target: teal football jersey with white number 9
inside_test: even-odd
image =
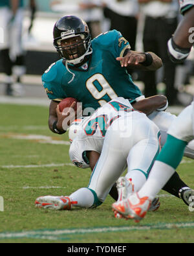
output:
[[[75,75],[73,80],[62,59],[50,65],[42,76],[48,98],[61,101],[73,97],[82,102],[83,109],[96,110],[116,97],[130,100],[140,97],[140,89],[116,60],[127,48],[130,45],[122,34],[111,30],[92,40],[92,56],[87,63],[81,67],[68,65]]]

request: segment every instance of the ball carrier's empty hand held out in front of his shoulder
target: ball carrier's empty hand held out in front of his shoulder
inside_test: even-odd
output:
[[[122,67],[128,67],[130,65],[138,65],[146,60],[144,53],[138,53],[130,51],[124,57],[118,57],[116,60],[120,61]]]

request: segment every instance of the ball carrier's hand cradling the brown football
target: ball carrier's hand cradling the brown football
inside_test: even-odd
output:
[[[58,122],[57,122],[57,127],[58,130],[65,130],[69,128],[70,124],[72,121],[77,119],[78,117],[81,116],[82,114],[82,107],[81,104],[78,106],[78,108],[75,110],[77,102],[72,102],[69,108],[65,108],[63,111],[59,110],[59,105],[56,108],[56,113],[58,116]]]

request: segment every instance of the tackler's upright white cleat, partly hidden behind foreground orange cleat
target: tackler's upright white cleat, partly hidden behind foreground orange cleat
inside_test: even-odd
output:
[[[129,194],[134,192],[133,182],[131,181],[131,179],[127,179],[125,177],[120,177],[116,181],[116,188],[117,188],[117,191],[118,191],[118,200],[117,200],[117,202],[120,202],[122,200],[127,199],[127,196],[129,196]],[[118,213],[117,211],[113,210],[113,212],[114,212],[114,217],[115,218],[123,218],[123,216],[120,215],[120,213]]]

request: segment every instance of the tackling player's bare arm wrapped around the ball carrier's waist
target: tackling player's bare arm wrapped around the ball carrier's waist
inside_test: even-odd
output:
[[[151,114],[153,111],[166,110],[168,103],[167,98],[164,95],[155,95],[132,104],[135,110],[142,111],[146,115]]]

